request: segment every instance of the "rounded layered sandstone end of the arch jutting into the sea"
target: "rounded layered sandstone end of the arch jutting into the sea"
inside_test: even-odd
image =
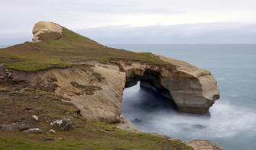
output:
[[[174,72],[161,72],[160,84],[170,91],[178,109],[186,113],[208,113],[209,107],[219,99],[217,81],[211,72],[177,59],[159,58],[176,66]]]

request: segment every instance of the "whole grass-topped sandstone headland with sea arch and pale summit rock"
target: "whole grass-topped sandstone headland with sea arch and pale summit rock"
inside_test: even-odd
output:
[[[141,133],[121,115],[123,91],[138,81],[164,94],[183,113],[209,113],[219,99],[211,72],[187,62],[102,46],[46,21],[35,24],[33,34],[32,42],[0,49],[0,85],[50,92],[87,120]],[[222,149],[209,141],[186,144]]]

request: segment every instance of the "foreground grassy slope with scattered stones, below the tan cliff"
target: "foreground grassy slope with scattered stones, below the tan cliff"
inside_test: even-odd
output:
[[[169,141],[148,134],[123,132],[108,123],[86,120],[73,105],[62,104],[59,97],[33,88],[11,88],[0,84],[0,124],[23,122],[40,128],[43,134],[0,129],[0,149],[192,149],[181,142]],[[31,120],[37,115],[39,121]],[[50,122],[69,117],[70,131],[47,135]]]

